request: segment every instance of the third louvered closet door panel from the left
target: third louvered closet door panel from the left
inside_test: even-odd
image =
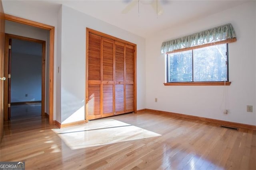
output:
[[[125,45],[115,42],[115,113],[125,113],[125,72],[124,72]]]

